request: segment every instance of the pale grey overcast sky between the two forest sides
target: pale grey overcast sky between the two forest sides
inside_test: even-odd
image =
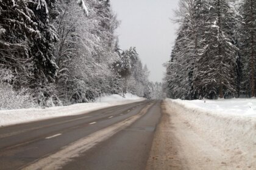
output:
[[[152,81],[161,82],[163,63],[169,60],[176,38],[174,16],[179,0],[112,0],[113,10],[121,20],[116,31],[122,49],[137,48],[143,64],[148,66]]]

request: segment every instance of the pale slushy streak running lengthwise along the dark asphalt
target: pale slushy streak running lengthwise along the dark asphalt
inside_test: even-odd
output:
[[[151,105],[153,104],[154,103]],[[124,121],[113,124],[105,129],[91,133],[91,135],[63,147],[60,151],[55,152],[55,154],[41,158],[23,169],[60,169],[63,165],[71,161],[72,158],[79,157],[80,154],[88,151],[91,147],[96,146],[101,141],[107,140],[111,136],[115,135],[115,133],[126,129],[126,127],[130,126],[133,122],[137,121],[137,119],[141,118],[141,116],[145,115],[151,105],[146,105],[146,107],[144,107],[137,115],[124,119]]]

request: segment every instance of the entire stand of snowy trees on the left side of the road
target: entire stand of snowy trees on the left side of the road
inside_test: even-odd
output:
[[[44,107],[144,96],[147,75],[135,48],[119,49],[118,26],[110,1],[0,0],[0,69],[12,74],[5,87]]]

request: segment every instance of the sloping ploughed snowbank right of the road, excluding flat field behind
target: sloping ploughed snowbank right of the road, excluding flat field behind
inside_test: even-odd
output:
[[[165,102],[168,108],[179,111],[179,118],[194,132],[227,152],[236,168],[256,168],[256,118],[230,115],[188,101],[166,99]]]

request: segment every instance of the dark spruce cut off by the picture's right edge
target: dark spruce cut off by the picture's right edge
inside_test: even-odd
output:
[[[240,54],[243,61],[243,87],[246,94],[253,97],[255,93],[255,57],[256,57],[256,2],[244,0],[239,12],[242,22],[239,36]]]

